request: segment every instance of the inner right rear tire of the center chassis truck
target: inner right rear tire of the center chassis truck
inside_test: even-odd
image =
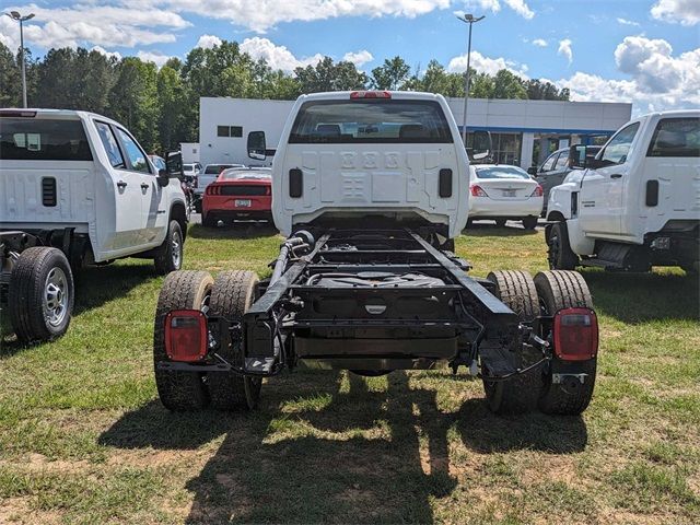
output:
[[[522,320],[533,320],[539,315],[535,282],[528,272],[492,271],[487,279],[495,284],[495,296]],[[541,392],[541,377],[537,370],[505,381],[488,381],[488,369],[482,370],[486,399],[493,412],[522,413],[537,407]]]

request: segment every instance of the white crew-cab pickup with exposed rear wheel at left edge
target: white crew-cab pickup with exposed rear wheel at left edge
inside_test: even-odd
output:
[[[3,331],[25,342],[62,335],[82,265],[141,257],[162,273],[180,268],[179,153],[158,172],[129,131],[101,115],[1,109],[0,159]]]

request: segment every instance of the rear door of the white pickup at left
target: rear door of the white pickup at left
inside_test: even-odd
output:
[[[98,230],[106,235],[101,237],[101,245],[109,252],[140,246],[142,244],[141,174],[131,170],[129,158],[117,139],[118,128],[100,120],[95,120],[94,124],[109,161],[108,170],[110,170],[115,200],[114,206],[103,206],[97,210],[97,220],[103,223]],[[105,213],[114,215],[107,217]]]

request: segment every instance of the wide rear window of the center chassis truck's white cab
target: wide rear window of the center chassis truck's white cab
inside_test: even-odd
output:
[[[361,98],[302,104],[289,142],[451,143],[442,107],[434,101]]]

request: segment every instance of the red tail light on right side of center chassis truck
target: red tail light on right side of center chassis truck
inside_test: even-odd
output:
[[[555,353],[564,361],[585,361],[598,353],[598,319],[588,308],[564,308],[555,314]]]

